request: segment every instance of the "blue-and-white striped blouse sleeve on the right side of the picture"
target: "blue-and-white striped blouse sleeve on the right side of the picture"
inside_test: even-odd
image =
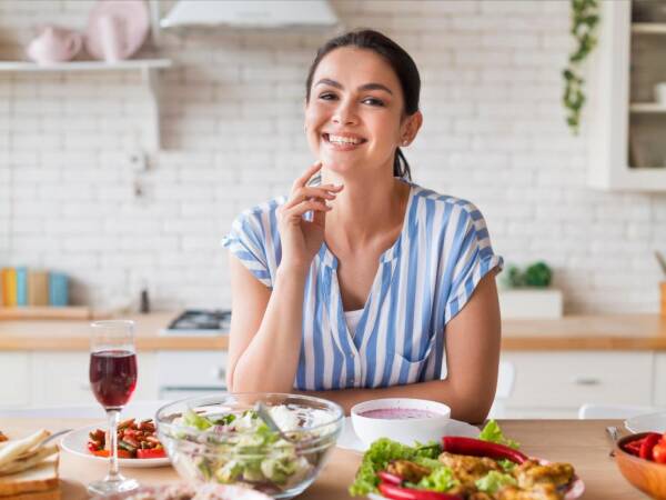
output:
[[[465,202],[454,231],[454,246],[450,254],[454,262],[445,323],[465,307],[482,278],[495,268],[502,270],[504,264],[502,257],[493,252],[485,219],[474,204]]]

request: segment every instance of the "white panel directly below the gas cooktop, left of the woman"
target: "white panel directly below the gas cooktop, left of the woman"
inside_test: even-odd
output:
[[[160,351],[158,384],[164,388],[226,388],[226,351]]]

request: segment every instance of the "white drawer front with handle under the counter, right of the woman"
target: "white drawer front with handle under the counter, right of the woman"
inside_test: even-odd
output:
[[[507,408],[577,409],[586,402],[649,406],[652,352],[503,352],[515,367]]]

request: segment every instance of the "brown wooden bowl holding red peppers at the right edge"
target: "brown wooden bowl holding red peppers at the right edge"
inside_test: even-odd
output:
[[[634,457],[623,449],[628,441],[640,439],[645,434],[629,434],[618,440],[615,443],[615,463],[635,488],[650,498],[666,500],[666,464]]]

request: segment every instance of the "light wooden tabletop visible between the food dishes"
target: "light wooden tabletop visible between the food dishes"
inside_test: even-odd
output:
[[[10,437],[21,437],[46,428],[52,431],[95,423],[81,419],[3,419],[0,429]],[[636,500],[646,499],[638,490],[625,481],[614,460],[608,457],[610,444],[605,433],[607,426],[618,429],[622,422],[613,420],[503,420],[500,421],[506,436],[522,443],[522,450],[529,456],[552,461],[568,461],[576,468],[585,482],[586,499]],[[349,499],[347,487],[352,483],[361,456],[335,449],[316,481],[299,498],[303,500]],[[84,482],[102,478],[105,466],[90,462],[62,452],[60,477],[63,500],[87,499]],[[160,469],[124,469],[123,473],[138,479],[143,484],[159,484],[176,481],[175,471]],[[83,481],[83,482],[82,482]]]

